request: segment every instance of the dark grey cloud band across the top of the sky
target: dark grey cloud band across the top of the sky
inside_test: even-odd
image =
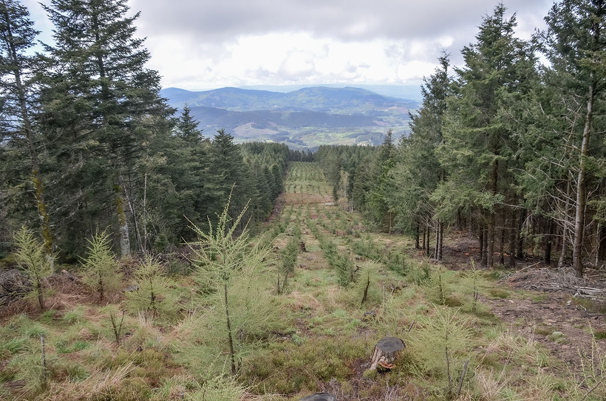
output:
[[[476,27],[497,1],[486,0],[131,0],[144,31],[225,41],[241,35],[310,31],[340,41],[433,38]],[[511,0],[511,12],[536,15],[549,1]]]

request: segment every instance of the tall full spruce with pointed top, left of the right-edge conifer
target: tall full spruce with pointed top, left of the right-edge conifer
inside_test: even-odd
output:
[[[535,59],[528,44],[514,37],[515,15],[507,18],[499,4],[485,16],[477,42],[462,50],[463,68],[456,68],[454,94],[448,99],[441,162],[450,171],[441,201],[476,214],[482,264],[493,266],[499,216],[508,205],[516,168],[511,124],[515,102],[525,96],[534,76]],[[502,238],[503,236],[501,236]],[[503,241],[501,241],[503,242]]]

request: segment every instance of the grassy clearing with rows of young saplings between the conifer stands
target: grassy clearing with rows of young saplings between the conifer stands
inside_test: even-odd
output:
[[[315,164],[293,164],[285,187],[281,217],[264,230],[264,261],[229,279],[236,376],[224,294],[188,268],[169,273],[148,260],[128,270],[139,296],[78,297],[7,317],[0,399],[297,400],[330,391],[339,400],[450,400],[466,361],[462,400],[606,399],[602,331],[579,353],[580,367],[567,366],[523,334],[526,322],[505,324],[481,302],[524,296],[493,272],[447,270],[419,258],[410,239],[364,231],[359,216],[330,204]],[[162,278],[155,308],[146,269]],[[390,372],[368,371],[385,336],[407,347]]]

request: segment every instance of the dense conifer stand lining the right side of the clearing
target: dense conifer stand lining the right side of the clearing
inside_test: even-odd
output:
[[[346,188],[355,209],[437,259],[450,226],[476,236],[484,266],[528,250],[579,276],[603,265],[606,1],[562,0],[545,21],[524,41],[497,5],[462,67],[439,58],[397,146],[388,133],[353,167],[343,164],[358,147],[319,150],[335,194]]]

